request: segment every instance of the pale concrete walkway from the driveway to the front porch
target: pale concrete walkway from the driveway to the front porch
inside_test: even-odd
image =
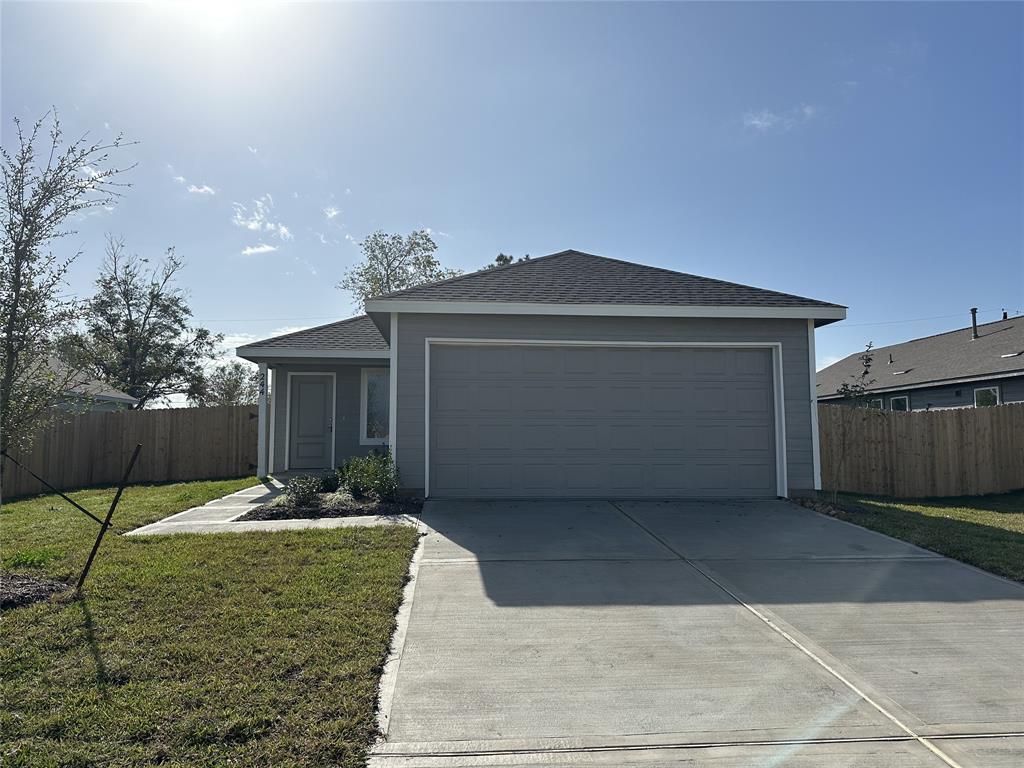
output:
[[[275,499],[285,492],[281,480],[267,479],[261,485],[254,485],[221,499],[193,507],[184,512],[165,517],[163,520],[135,528],[125,536],[158,536],[162,534],[227,534],[251,530],[299,530],[304,528],[345,528],[364,525],[387,525],[404,523],[419,525],[420,521],[409,515],[382,517],[361,515],[357,517],[324,517],[309,520],[249,520],[239,522],[238,518]]]

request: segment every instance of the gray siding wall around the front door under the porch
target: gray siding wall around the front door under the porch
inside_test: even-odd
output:
[[[375,445],[359,444],[359,371],[364,368],[387,368],[386,359],[367,359],[345,362],[342,365],[325,365],[324,362],[287,364],[272,367],[276,372],[276,389],[271,393],[272,406],[276,410],[273,418],[273,465],[271,472],[285,470],[287,455],[286,423],[288,420],[288,373],[289,372],[325,372],[335,373],[338,377],[336,403],[336,420],[334,425],[334,444],[336,463],[341,464],[349,456],[365,456]]]

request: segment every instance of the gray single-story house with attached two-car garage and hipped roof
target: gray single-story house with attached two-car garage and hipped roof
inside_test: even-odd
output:
[[[818,487],[814,329],[846,308],[564,251],[240,347],[271,373],[261,473],[390,446],[430,497]]]

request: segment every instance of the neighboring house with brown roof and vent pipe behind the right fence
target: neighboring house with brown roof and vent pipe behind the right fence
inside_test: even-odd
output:
[[[975,408],[1024,401],[1024,316],[873,350],[867,403],[885,411]],[[860,352],[818,372],[818,399],[842,402]]]

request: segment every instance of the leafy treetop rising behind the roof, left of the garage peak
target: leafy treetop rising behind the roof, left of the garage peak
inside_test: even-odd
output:
[[[406,237],[377,230],[368,236],[359,248],[362,262],[349,269],[337,287],[351,293],[360,308],[373,296],[462,273],[441,266],[435,255],[437,244],[425,229],[417,229]]]

